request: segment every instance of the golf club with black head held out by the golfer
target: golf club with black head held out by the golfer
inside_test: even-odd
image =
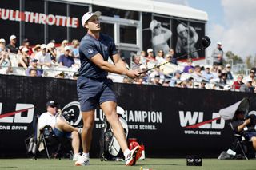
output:
[[[185,57],[187,55],[190,55],[191,53],[195,53],[195,52],[201,51],[202,49],[206,49],[208,46],[210,46],[210,38],[208,36],[202,37],[201,43],[202,43],[202,47],[200,49],[194,50],[194,51],[192,51],[190,53],[185,53],[185,54],[183,54],[183,55],[181,55],[179,57],[176,57],[175,59],[178,59],[178,58],[181,58],[181,57]],[[173,59],[171,61],[173,61]],[[152,69],[159,68],[162,65],[166,65],[167,63],[170,63],[171,61],[166,61],[166,62],[162,63],[161,65],[155,65],[153,68],[146,69],[145,71],[142,71],[139,74],[146,73],[146,72],[148,72],[148,71],[150,71]]]

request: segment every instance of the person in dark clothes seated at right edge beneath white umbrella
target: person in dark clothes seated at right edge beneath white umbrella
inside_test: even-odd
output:
[[[253,142],[254,150],[256,151],[256,130],[255,130],[256,116],[251,114],[245,117],[245,112],[237,110],[234,115],[232,125],[234,131],[242,136],[245,136]]]

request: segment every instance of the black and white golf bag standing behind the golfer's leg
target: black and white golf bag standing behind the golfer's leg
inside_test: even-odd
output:
[[[126,120],[122,117],[124,110],[121,107],[117,107],[117,113],[119,121],[124,128],[126,139],[128,136],[128,125]],[[110,123],[106,120],[106,117],[103,119],[102,124],[102,135],[100,139],[100,158],[101,160],[120,160],[123,158],[122,149],[118,144],[118,140],[114,137]]]

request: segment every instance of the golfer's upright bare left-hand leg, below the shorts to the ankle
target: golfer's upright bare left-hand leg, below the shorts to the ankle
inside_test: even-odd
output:
[[[84,153],[89,153],[92,133],[94,129],[94,109],[82,112],[82,150]]]

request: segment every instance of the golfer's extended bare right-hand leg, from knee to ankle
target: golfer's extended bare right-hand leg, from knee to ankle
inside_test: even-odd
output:
[[[103,102],[101,105],[103,113],[106,115],[107,121],[110,123],[115,138],[118,140],[120,147],[122,148],[122,152],[125,152],[127,147],[125,132],[122,128],[122,125],[119,121],[118,114],[116,112],[117,104],[114,101],[106,101]]]

